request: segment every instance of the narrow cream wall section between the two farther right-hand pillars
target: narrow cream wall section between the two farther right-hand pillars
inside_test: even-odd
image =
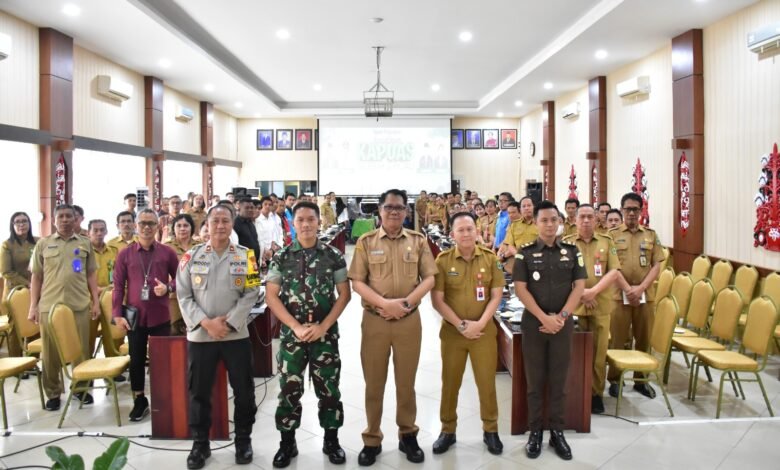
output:
[[[576,118],[563,119],[563,108],[579,103]],[[569,197],[569,175],[572,165],[577,176],[578,198],[590,201],[588,177],[588,87],[587,85],[555,100],[555,196],[558,207]]]

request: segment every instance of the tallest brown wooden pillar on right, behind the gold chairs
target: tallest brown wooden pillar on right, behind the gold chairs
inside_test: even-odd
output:
[[[672,39],[672,108],[674,139],[674,269],[690,271],[704,251],[704,60],[702,30]],[[683,155],[685,158],[683,158]],[[687,165],[688,187],[681,184]],[[687,191],[685,191],[687,189]],[[686,198],[683,201],[683,198]],[[687,230],[681,220],[687,209]]]

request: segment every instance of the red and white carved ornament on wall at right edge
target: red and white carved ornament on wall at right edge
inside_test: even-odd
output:
[[[753,228],[753,246],[780,251],[780,154],[777,143],[769,155],[761,156],[761,175],[756,193],[756,226]]]

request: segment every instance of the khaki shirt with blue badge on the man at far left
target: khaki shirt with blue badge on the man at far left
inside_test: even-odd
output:
[[[73,234],[66,240],[55,233],[38,240],[32,257],[33,274],[43,278],[38,310],[46,313],[60,302],[74,312],[87,310],[92,300],[87,274],[96,269],[88,238]]]

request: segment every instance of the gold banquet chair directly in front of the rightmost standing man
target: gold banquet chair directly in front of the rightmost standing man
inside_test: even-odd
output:
[[[677,304],[671,296],[664,297],[655,309],[655,323],[650,335],[650,350],[636,351],[628,349],[608,349],[607,364],[620,371],[618,379],[618,396],[615,405],[615,415],[620,411],[620,399],[623,397],[623,381],[627,372],[644,372],[644,378],[634,378],[634,382],[654,382],[664,395],[669,415],[674,417],[672,405],[666,395],[666,388],[661,380],[664,364],[672,346],[672,334],[677,324]]]

